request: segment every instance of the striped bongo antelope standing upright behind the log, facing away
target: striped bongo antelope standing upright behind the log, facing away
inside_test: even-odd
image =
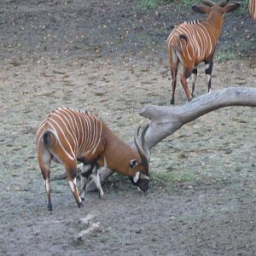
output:
[[[172,99],[177,84],[177,67],[179,62],[183,65],[183,73],[180,76],[183,90],[189,101],[194,96],[195,80],[197,77],[197,65],[205,62],[205,72],[208,80],[208,92],[211,90],[212,60],[222,29],[223,15],[240,6],[240,3],[228,3],[223,0],[214,3],[211,0],[201,0],[201,4],[194,4],[192,9],[200,14],[207,14],[205,21],[183,22],[176,26],[169,35],[166,45],[170,58],[172,73]],[[187,79],[192,73],[192,94],[190,95]]]

